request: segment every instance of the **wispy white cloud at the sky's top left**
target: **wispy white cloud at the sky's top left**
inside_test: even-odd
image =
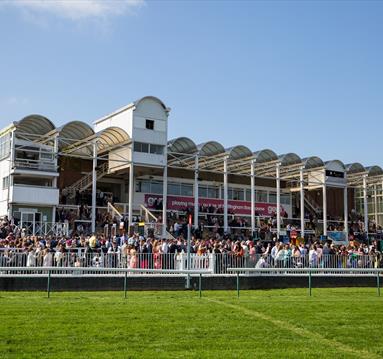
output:
[[[144,3],[144,0],[5,0],[1,5],[32,15],[52,14],[76,21],[133,14]]]

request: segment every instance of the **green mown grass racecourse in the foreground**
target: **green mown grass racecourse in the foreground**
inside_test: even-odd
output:
[[[374,289],[0,292],[1,358],[381,358]]]

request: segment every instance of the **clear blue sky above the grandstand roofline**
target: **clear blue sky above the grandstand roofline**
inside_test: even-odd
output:
[[[155,95],[170,138],[383,166],[382,38],[379,1],[3,1],[0,125]]]

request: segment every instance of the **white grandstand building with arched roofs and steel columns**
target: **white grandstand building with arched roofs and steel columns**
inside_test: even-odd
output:
[[[147,96],[93,126],[56,127],[41,115],[11,123],[0,132],[0,215],[36,234],[67,221],[63,211],[72,213],[71,225],[88,223],[92,231],[102,213],[129,224],[144,213],[162,221],[164,235],[169,212],[185,211],[195,227],[218,217],[215,226],[224,232],[241,223],[254,233],[259,218],[275,217],[277,236],[288,221],[308,233],[310,216],[324,235],[332,220],[341,222],[344,238],[355,214],[364,217],[365,232],[368,218],[382,225],[379,166],[278,155],[256,150],[256,143],[227,148],[214,140],[169,139],[169,115],[160,99]]]

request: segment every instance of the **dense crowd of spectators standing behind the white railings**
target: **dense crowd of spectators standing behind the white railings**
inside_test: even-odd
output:
[[[265,224],[266,225],[266,224]],[[0,222],[1,266],[94,266],[126,268],[176,268],[187,252],[185,224],[177,219],[174,238],[161,239],[138,233],[127,235],[124,229],[112,237],[105,234],[71,236],[30,236],[15,223]],[[203,239],[194,233],[190,251],[197,257],[215,257],[217,273],[228,266],[237,267],[380,267],[378,242],[350,240],[348,245],[335,245],[301,239],[279,242],[254,240],[240,233],[236,236],[210,232]],[[212,259],[203,266],[211,264]]]

